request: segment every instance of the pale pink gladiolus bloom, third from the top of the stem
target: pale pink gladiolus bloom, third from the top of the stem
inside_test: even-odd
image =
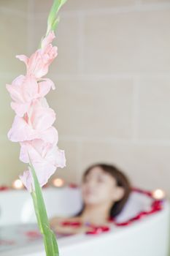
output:
[[[47,100],[34,99],[24,117],[15,116],[8,138],[13,142],[42,138],[46,142],[56,144],[58,132],[52,127],[54,121],[55,112],[49,108]]]

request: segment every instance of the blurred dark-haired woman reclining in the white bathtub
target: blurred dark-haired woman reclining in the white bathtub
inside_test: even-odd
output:
[[[114,165],[98,163],[85,170],[81,184],[83,206],[70,218],[54,217],[50,225],[56,233],[84,233],[90,225],[110,225],[109,219],[123,210],[131,185],[125,174]],[[79,222],[78,227],[64,226],[62,222]]]

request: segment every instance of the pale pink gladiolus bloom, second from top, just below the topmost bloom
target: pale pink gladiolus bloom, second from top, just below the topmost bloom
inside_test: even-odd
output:
[[[13,80],[12,85],[6,85],[14,102],[11,107],[18,116],[23,116],[31,105],[33,99],[44,97],[50,89],[55,89],[52,80],[44,78],[36,81],[33,76],[20,75]]]

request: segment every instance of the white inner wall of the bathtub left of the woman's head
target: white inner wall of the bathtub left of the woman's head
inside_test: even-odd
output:
[[[43,196],[49,217],[72,216],[81,208],[80,189],[47,188]],[[0,192],[0,226],[36,222],[31,195],[27,190]]]

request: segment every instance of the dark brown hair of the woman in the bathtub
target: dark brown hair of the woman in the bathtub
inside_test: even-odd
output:
[[[123,187],[124,189],[124,195],[122,199],[115,202],[109,211],[109,218],[115,218],[123,210],[123,207],[128,200],[128,197],[131,193],[131,184],[128,181],[128,178],[117,167],[115,167],[114,165],[107,165],[102,163],[94,164],[88,167],[88,169],[85,170],[85,173],[83,174],[82,180],[84,180],[85,176],[87,176],[88,173],[90,173],[90,170],[92,170],[94,167],[101,167],[101,169],[104,170],[105,173],[109,173],[113,178],[115,178],[117,186]],[[82,210],[74,217],[80,216],[84,211],[84,208],[85,205],[82,206]]]

